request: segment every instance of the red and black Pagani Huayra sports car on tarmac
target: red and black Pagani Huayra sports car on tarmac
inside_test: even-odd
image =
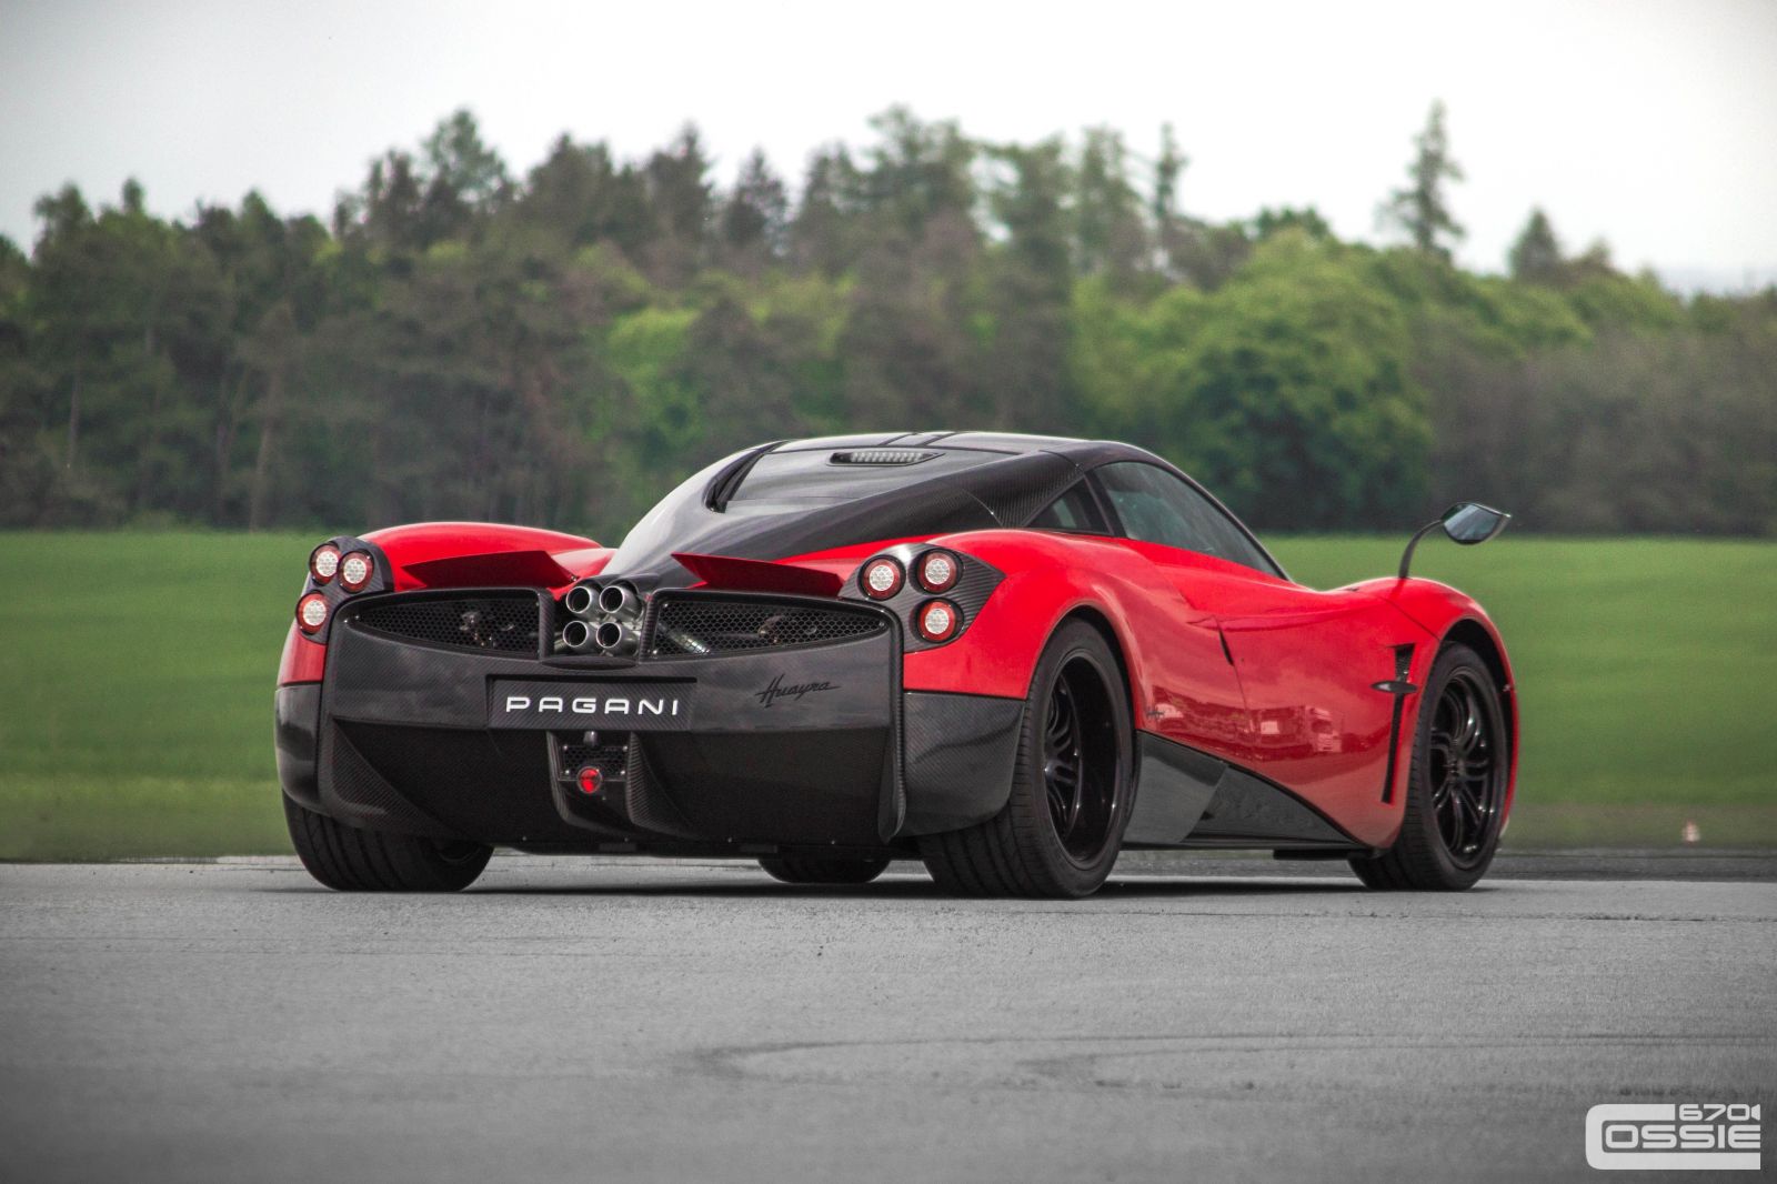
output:
[[[1503,514],[1434,526],[1482,542]],[[1086,896],[1123,848],[1464,889],[1512,804],[1498,631],[1429,580],[1292,581],[1128,444],[926,432],[750,448],[618,548],[480,523],[336,537],[277,676],[322,884],[451,891],[496,844]]]

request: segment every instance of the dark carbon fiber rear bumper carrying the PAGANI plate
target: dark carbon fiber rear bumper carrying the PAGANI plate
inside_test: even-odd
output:
[[[903,693],[883,617],[853,640],[617,661],[428,645],[348,608],[325,681],[277,692],[279,777],[352,825],[544,850],[881,850],[992,818],[1022,702]]]

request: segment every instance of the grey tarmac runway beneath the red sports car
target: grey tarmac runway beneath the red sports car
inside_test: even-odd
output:
[[[1079,903],[0,866],[0,1179],[1582,1179],[1598,1102],[1772,1113],[1777,882],[1717,878],[1766,864],[1406,896],[1137,857]]]

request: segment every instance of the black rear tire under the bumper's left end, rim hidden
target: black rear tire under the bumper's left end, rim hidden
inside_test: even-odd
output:
[[[474,884],[494,848],[361,830],[284,796],[290,843],[309,875],[339,892],[457,892]]]

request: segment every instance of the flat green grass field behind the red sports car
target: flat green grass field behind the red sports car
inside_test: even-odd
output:
[[[1400,539],[1281,539],[1315,587]],[[0,859],[286,852],[272,677],[313,539],[0,533]],[[1777,846],[1777,546],[1430,540],[1523,704],[1507,843]]]

